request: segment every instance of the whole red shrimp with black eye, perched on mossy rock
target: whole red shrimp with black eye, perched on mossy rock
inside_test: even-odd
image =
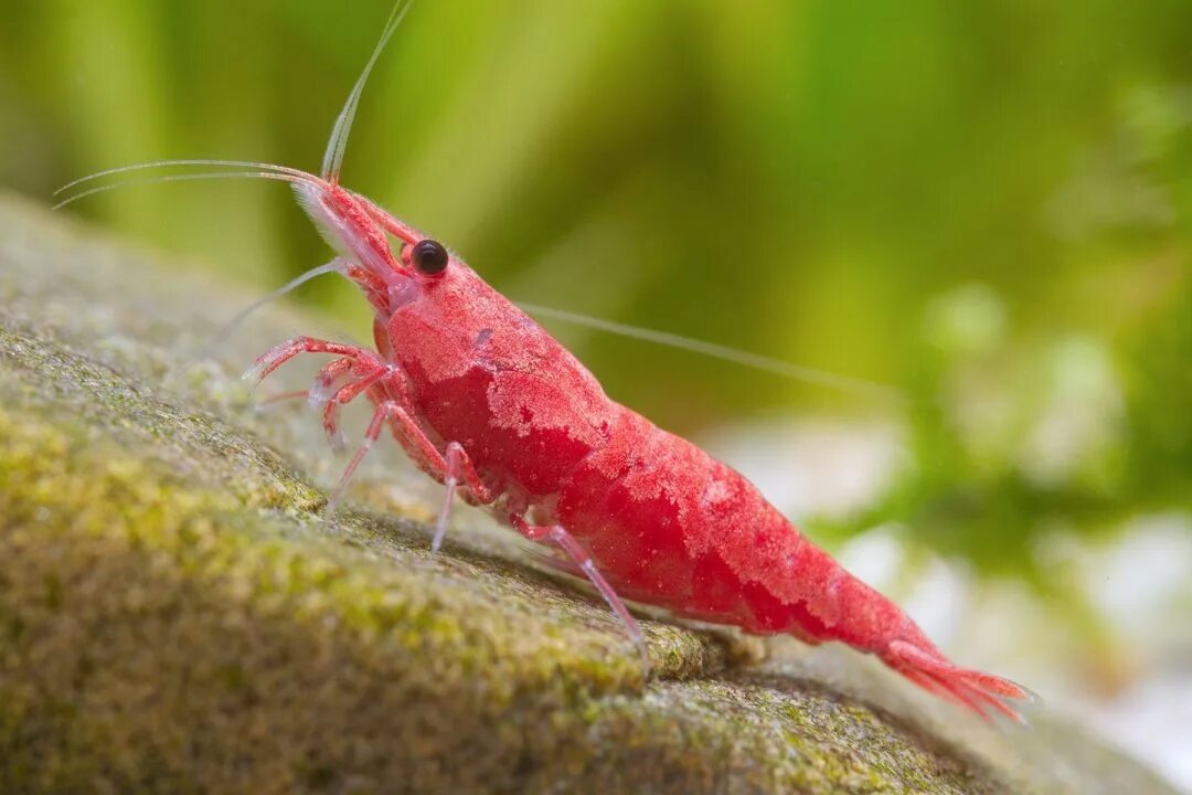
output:
[[[303,336],[246,373],[259,383],[296,356],[333,356],[305,396],[334,445],[342,445],[341,408],[360,397],[373,405],[327,510],[387,430],[446,486],[433,551],[455,496],[557,547],[560,565],[586,577],[623,623],[647,675],[648,647],[622,598],[746,633],[840,641],[982,716],[1022,720],[1008,702],[1026,700],[1024,688],[952,664],[906,613],[812,544],[739,472],[609,399],[569,350],[459,256],[340,184],[360,94],[408,10],[395,6],[317,176],[241,161],[164,163],[248,169],[175,179],[290,182],[337,253],[311,274],[340,273],[373,310],[374,348]]]

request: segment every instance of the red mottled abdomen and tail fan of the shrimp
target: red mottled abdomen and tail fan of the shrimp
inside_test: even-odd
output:
[[[626,597],[755,634],[840,641],[931,692],[1020,719],[1002,700],[1029,697],[1024,689],[955,666],[744,476],[616,408],[608,442],[569,474],[553,508]]]

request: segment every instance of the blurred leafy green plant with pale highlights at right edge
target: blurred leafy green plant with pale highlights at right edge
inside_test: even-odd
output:
[[[983,284],[929,304],[908,465],[871,504],[812,522],[837,542],[894,524],[912,566],[939,554],[1029,583],[1109,689],[1129,676],[1131,650],[1057,542],[1192,516],[1192,91],[1148,87],[1118,110],[1116,135],[1053,206],[1069,256],[1099,266],[1049,286],[1067,298],[1055,304],[1066,322],[1020,328]]]

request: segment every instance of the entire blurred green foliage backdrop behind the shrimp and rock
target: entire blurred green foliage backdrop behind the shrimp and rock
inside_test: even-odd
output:
[[[316,168],[389,0],[346,7],[7,4],[0,182]],[[515,299],[898,386],[912,466],[832,526],[1043,582],[1039,534],[1192,499],[1190,30],[1186,0],[426,0],[344,178]],[[327,257],[273,184],[75,209],[261,285]],[[366,328],[343,285],[300,296]],[[888,411],[548,325],[679,431]]]

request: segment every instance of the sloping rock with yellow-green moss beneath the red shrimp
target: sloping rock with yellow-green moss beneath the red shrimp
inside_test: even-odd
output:
[[[479,515],[430,555],[393,454],[324,521],[318,422],[229,375],[317,319],[195,362],[247,296],[153,260],[0,195],[0,791],[1172,791],[831,650],[645,620],[642,682]]]

